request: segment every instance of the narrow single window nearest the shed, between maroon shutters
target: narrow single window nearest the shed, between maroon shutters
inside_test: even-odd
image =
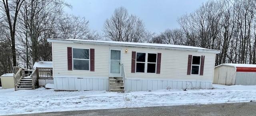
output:
[[[199,74],[201,56],[192,57],[191,74]]]

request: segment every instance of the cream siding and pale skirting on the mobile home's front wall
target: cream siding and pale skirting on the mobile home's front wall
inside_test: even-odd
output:
[[[67,47],[94,48],[95,71],[68,70]],[[59,42],[52,42],[52,48],[56,90],[108,90],[110,48],[122,48],[126,91],[212,87],[215,53]],[[131,73],[132,51],[162,53],[160,74]],[[187,75],[188,55],[205,56],[204,75]]]

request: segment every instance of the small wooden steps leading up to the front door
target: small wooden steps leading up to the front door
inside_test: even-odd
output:
[[[109,77],[110,92],[124,92],[124,80],[122,77]]]

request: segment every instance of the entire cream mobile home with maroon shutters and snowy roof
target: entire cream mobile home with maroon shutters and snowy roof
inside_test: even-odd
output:
[[[210,89],[220,50],[194,46],[48,39],[55,90]]]

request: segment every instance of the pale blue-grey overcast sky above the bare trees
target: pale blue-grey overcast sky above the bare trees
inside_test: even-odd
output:
[[[146,29],[162,32],[166,28],[179,28],[177,18],[196,10],[207,0],[66,0],[72,8],[66,12],[84,16],[91,30],[102,32],[103,24],[114,9],[124,6],[129,14],[143,20]]]

